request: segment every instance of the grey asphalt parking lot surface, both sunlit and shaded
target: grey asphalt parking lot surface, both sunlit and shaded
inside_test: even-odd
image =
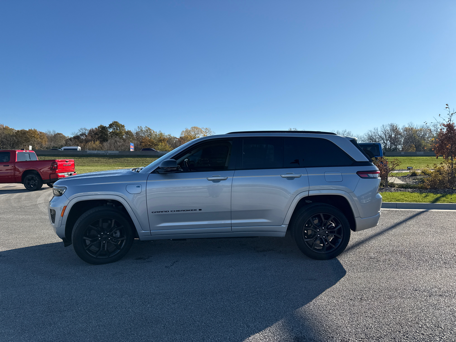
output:
[[[89,265],[50,188],[0,185],[0,341],[455,341],[456,212],[383,210],[337,259],[285,238],[140,242]]]

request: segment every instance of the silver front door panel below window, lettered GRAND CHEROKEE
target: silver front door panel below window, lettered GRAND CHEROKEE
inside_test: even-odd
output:
[[[146,192],[152,234],[231,232],[233,174],[234,171],[151,173]],[[214,176],[226,179],[207,179]]]

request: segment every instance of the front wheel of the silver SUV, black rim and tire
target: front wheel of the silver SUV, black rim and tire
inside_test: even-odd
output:
[[[71,236],[78,257],[93,265],[122,259],[134,238],[125,213],[114,207],[95,207],[84,212],[74,224]]]

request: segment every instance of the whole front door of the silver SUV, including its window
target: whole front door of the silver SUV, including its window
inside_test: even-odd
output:
[[[146,197],[151,235],[231,232],[232,140],[193,145],[178,170],[151,173]]]

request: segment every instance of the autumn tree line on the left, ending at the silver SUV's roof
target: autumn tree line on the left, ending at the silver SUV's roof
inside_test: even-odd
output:
[[[94,128],[81,128],[70,136],[58,133],[55,130],[41,132],[36,129],[15,130],[0,124],[0,149],[20,150],[49,150],[63,146],[80,146],[81,150],[130,150],[130,143],[135,144],[135,150],[150,147],[159,151],[170,151],[185,144],[187,141],[203,136],[214,135],[210,128],[193,126],[182,130],[176,137],[150,127],[138,126],[135,130],[126,130],[125,125],[113,121],[105,126],[100,124]]]

